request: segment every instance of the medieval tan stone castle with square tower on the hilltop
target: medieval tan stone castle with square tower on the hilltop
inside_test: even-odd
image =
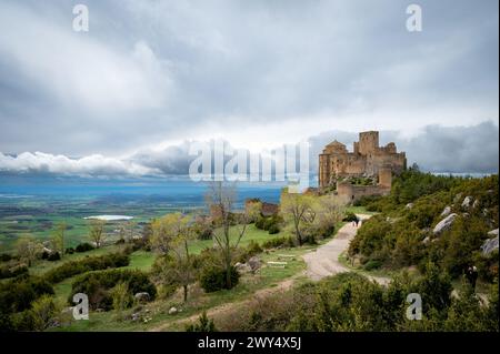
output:
[[[319,188],[336,186],[337,194],[346,202],[363,195],[383,195],[390,192],[392,174],[407,168],[404,152],[398,152],[393,142],[379,146],[379,132],[359,134],[353,152],[337,140],[324,146],[319,155]],[[369,185],[351,183],[352,178],[369,178],[376,181]]]

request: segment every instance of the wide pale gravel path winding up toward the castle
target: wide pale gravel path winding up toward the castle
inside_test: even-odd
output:
[[[370,215],[364,214],[357,214],[357,216],[361,221],[370,218]],[[306,253],[302,257],[308,265],[307,275],[314,281],[319,281],[329,275],[351,272],[352,270],[339,262],[339,256],[349,249],[349,243],[354,237],[358,229],[356,226],[348,223],[339,230],[333,240],[314,251]],[[382,285],[387,285],[390,282],[389,277],[371,275],[368,275],[368,277]]]

